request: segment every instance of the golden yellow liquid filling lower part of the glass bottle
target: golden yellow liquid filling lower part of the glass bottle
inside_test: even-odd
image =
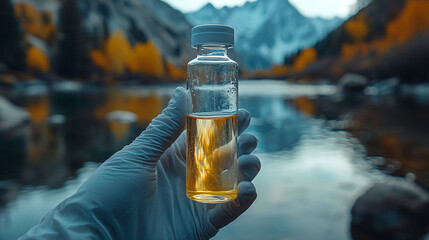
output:
[[[186,119],[186,195],[219,203],[237,197],[237,115]]]

